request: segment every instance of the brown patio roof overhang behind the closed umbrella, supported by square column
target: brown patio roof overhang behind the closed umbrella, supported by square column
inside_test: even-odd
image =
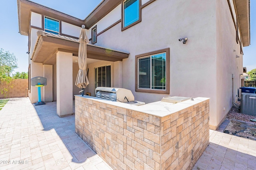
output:
[[[78,39],[47,33],[37,32],[38,39],[32,54],[32,61],[43,64],[55,64],[58,51],[73,53],[78,56]],[[103,61],[122,61],[128,58],[129,53],[108,49],[96,45],[87,45],[87,58]]]

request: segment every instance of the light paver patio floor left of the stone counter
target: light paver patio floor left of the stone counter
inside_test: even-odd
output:
[[[74,115],[58,117],[56,102],[33,106],[12,98],[0,111],[0,169],[112,168],[76,135]]]

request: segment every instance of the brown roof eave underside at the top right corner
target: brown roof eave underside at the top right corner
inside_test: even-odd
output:
[[[243,46],[250,45],[250,0],[234,0]]]

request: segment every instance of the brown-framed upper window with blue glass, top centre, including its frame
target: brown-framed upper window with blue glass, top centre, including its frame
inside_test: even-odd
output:
[[[122,3],[122,28],[135,25],[141,21],[141,0],[124,0]]]

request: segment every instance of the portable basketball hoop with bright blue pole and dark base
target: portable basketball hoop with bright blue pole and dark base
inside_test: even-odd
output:
[[[45,104],[45,102],[41,101],[41,87],[46,85],[47,85],[47,80],[44,77],[31,78],[31,86],[36,86],[38,91],[38,102],[33,103],[34,106]]]

